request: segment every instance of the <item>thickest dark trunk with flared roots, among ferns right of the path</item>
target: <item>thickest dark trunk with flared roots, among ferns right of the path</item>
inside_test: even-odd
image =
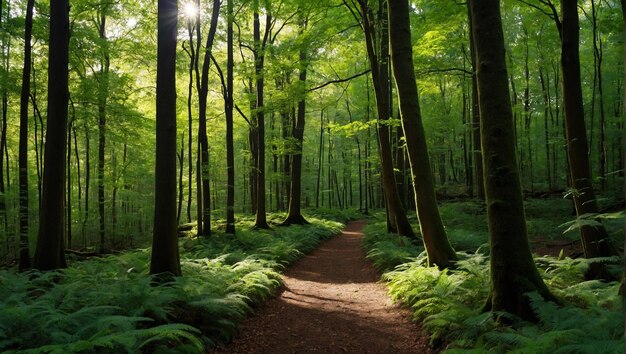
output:
[[[530,253],[515,151],[499,0],[470,0],[476,45],[491,286],[486,310],[533,320],[526,293],[554,300]]]

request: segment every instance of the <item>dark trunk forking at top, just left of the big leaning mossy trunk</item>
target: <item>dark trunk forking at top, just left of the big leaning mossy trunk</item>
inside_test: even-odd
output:
[[[378,120],[378,146],[380,147],[380,163],[382,172],[382,186],[387,206],[387,231],[402,236],[415,238],[413,228],[406,216],[393,170],[393,155],[391,153],[389,117],[391,113],[390,79],[389,79],[389,28],[387,21],[387,5],[379,0],[378,24],[366,1],[360,1],[363,29],[367,54],[372,69],[372,81],[376,95],[376,109]],[[379,28],[378,33],[375,27]],[[378,48],[378,52],[376,52]]]

